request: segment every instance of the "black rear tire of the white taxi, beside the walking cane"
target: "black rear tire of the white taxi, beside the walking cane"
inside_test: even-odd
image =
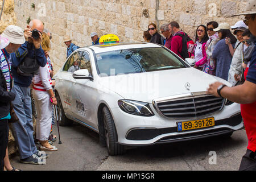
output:
[[[63,110],[63,107],[62,107],[62,104],[61,104],[61,100],[60,100],[60,96],[58,93],[55,93],[55,97],[56,97],[56,100],[57,100],[57,114],[58,114],[58,119],[59,119],[59,125],[60,126],[71,126],[73,121],[68,119],[66,116],[65,116],[65,113],[64,113],[64,110]]]

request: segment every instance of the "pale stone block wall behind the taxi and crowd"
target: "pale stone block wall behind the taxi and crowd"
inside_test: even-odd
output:
[[[78,46],[89,46],[90,32],[119,36],[121,42],[142,42],[149,23],[160,27],[176,20],[192,38],[199,24],[211,20],[230,25],[243,16],[230,15],[245,8],[245,0],[15,0],[16,25],[26,27],[28,19],[38,18],[53,35],[50,57],[55,71],[65,61],[65,35]]]

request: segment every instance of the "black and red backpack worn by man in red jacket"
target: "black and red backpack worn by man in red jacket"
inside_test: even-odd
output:
[[[191,51],[193,49],[193,46],[195,43],[193,40],[184,32],[183,34],[177,33],[175,36],[181,36],[182,38],[182,49],[181,52],[179,52],[180,56],[183,59],[191,57]]]

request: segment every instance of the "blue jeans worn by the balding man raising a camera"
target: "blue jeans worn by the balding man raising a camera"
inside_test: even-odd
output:
[[[19,148],[20,159],[36,154],[37,149],[33,138],[32,106],[30,88],[15,85],[11,92],[16,94],[13,109],[19,121],[12,123],[14,136]]]

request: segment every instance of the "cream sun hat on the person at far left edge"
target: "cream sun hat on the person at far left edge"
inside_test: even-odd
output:
[[[1,36],[7,38],[13,44],[24,44],[26,42],[23,29],[15,25],[6,27]]]

